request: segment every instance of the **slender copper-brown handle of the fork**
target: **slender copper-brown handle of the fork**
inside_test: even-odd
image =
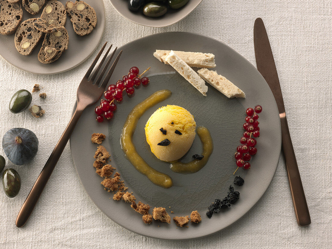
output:
[[[66,129],[62,133],[58,143],[55,145],[51,155],[49,156],[45,166],[41,170],[39,177],[37,178],[34,186],[32,187],[27,199],[21,207],[21,210],[16,218],[16,226],[22,227],[27,222],[30,217],[30,214],[34,210],[39,197],[41,196],[41,192],[43,191],[49,177],[51,176],[53,169],[55,168],[56,163],[58,162],[63,149],[65,148],[71,133],[74,130],[74,127],[81,117],[84,108],[80,108],[78,105],[76,110],[67,125]]]

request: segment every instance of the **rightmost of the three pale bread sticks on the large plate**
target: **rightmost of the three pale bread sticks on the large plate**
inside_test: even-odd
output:
[[[244,92],[216,71],[202,68],[197,71],[207,83],[224,94],[227,98],[245,98]]]

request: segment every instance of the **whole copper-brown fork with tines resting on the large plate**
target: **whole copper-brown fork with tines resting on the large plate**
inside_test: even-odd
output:
[[[23,206],[21,207],[21,210],[19,214],[17,215],[16,218],[16,226],[17,227],[22,227],[24,224],[27,222],[27,220],[30,217],[30,214],[34,210],[34,207],[36,206],[39,197],[41,196],[41,192],[43,191],[49,177],[51,176],[53,169],[55,168],[56,163],[58,162],[62,151],[64,147],[66,146],[69,137],[71,133],[74,130],[75,125],[77,124],[77,121],[81,117],[84,109],[86,109],[88,106],[93,105],[96,103],[100,97],[102,96],[103,92],[105,91],[105,87],[107,86],[108,81],[111,78],[111,75],[114,71],[115,66],[117,65],[119,58],[121,56],[122,50],[114,60],[111,68],[107,72],[103,82],[101,83],[101,86],[99,87],[99,83],[101,82],[101,79],[105,75],[105,72],[115,54],[115,51],[117,50],[117,47],[114,49],[113,53],[107,60],[103,70],[99,74],[98,78],[96,79],[96,76],[98,72],[100,71],[104,61],[106,60],[106,57],[108,53],[111,50],[112,45],[109,47],[107,52],[105,53],[103,59],[97,66],[96,70],[92,73],[93,68],[98,62],[99,57],[101,56],[102,52],[104,51],[106,47],[107,42],[104,44],[102,49],[99,51],[97,57],[94,59],[92,62],[90,68],[88,69],[87,73],[84,75],[80,85],[78,86],[77,89],[77,106],[76,110],[71,117],[71,120],[69,121],[69,124],[67,125],[66,129],[62,133],[58,143],[55,145],[54,150],[52,151],[51,155],[49,156],[45,166],[41,170],[41,173],[39,177],[36,180],[36,183],[32,187],[27,199],[25,200]],[[91,78],[90,78],[91,76]],[[90,78],[90,79],[89,79]],[[95,80],[96,79],[96,80]]]

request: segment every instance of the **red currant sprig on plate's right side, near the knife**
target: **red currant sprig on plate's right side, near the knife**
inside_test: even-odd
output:
[[[261,111],[261,106],[256,106],[255,109],[248,108],[246,110],[246,114],[248,116],[245,118],[246,123],[243,124],[243,128],[246,131],[243,132],[243,137],[240,139],[241,144],[237,146],[237,152],[234,154],[237,166],[235,172],[240,167],[243,167],[243,169],[250,169],[251,165],[248,161],[250,161],[251,157],[257,153],[257,148],[255,147],[257,140],[255,138],[259,137],[260,135],[260,128],[258,126],[259,122],[257,121],[259,116],[257,113],[260,113]]]

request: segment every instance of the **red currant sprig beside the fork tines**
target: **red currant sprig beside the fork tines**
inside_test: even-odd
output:
[[[96,106],[95,113],[97,114],[97,122],[101,123],[104,121],[104,117],[108,120],[112,119],[113,112],[117,109],[114,101],[120,103],[123,100],[123,93],[128,96],[135,92],[134,86],[138,87],[140,84],[147,85],[149,83],[148,77],[142,77],[151,67],[147,68],[143,73],[139,73],[138,67],[131,67],[128,75],[124,75],[122,80],[118,80],[116,84],[111,84],[104,92],[106,100],[101,100],[100,105]],[[104,117],[103,117],[104,115]]]

